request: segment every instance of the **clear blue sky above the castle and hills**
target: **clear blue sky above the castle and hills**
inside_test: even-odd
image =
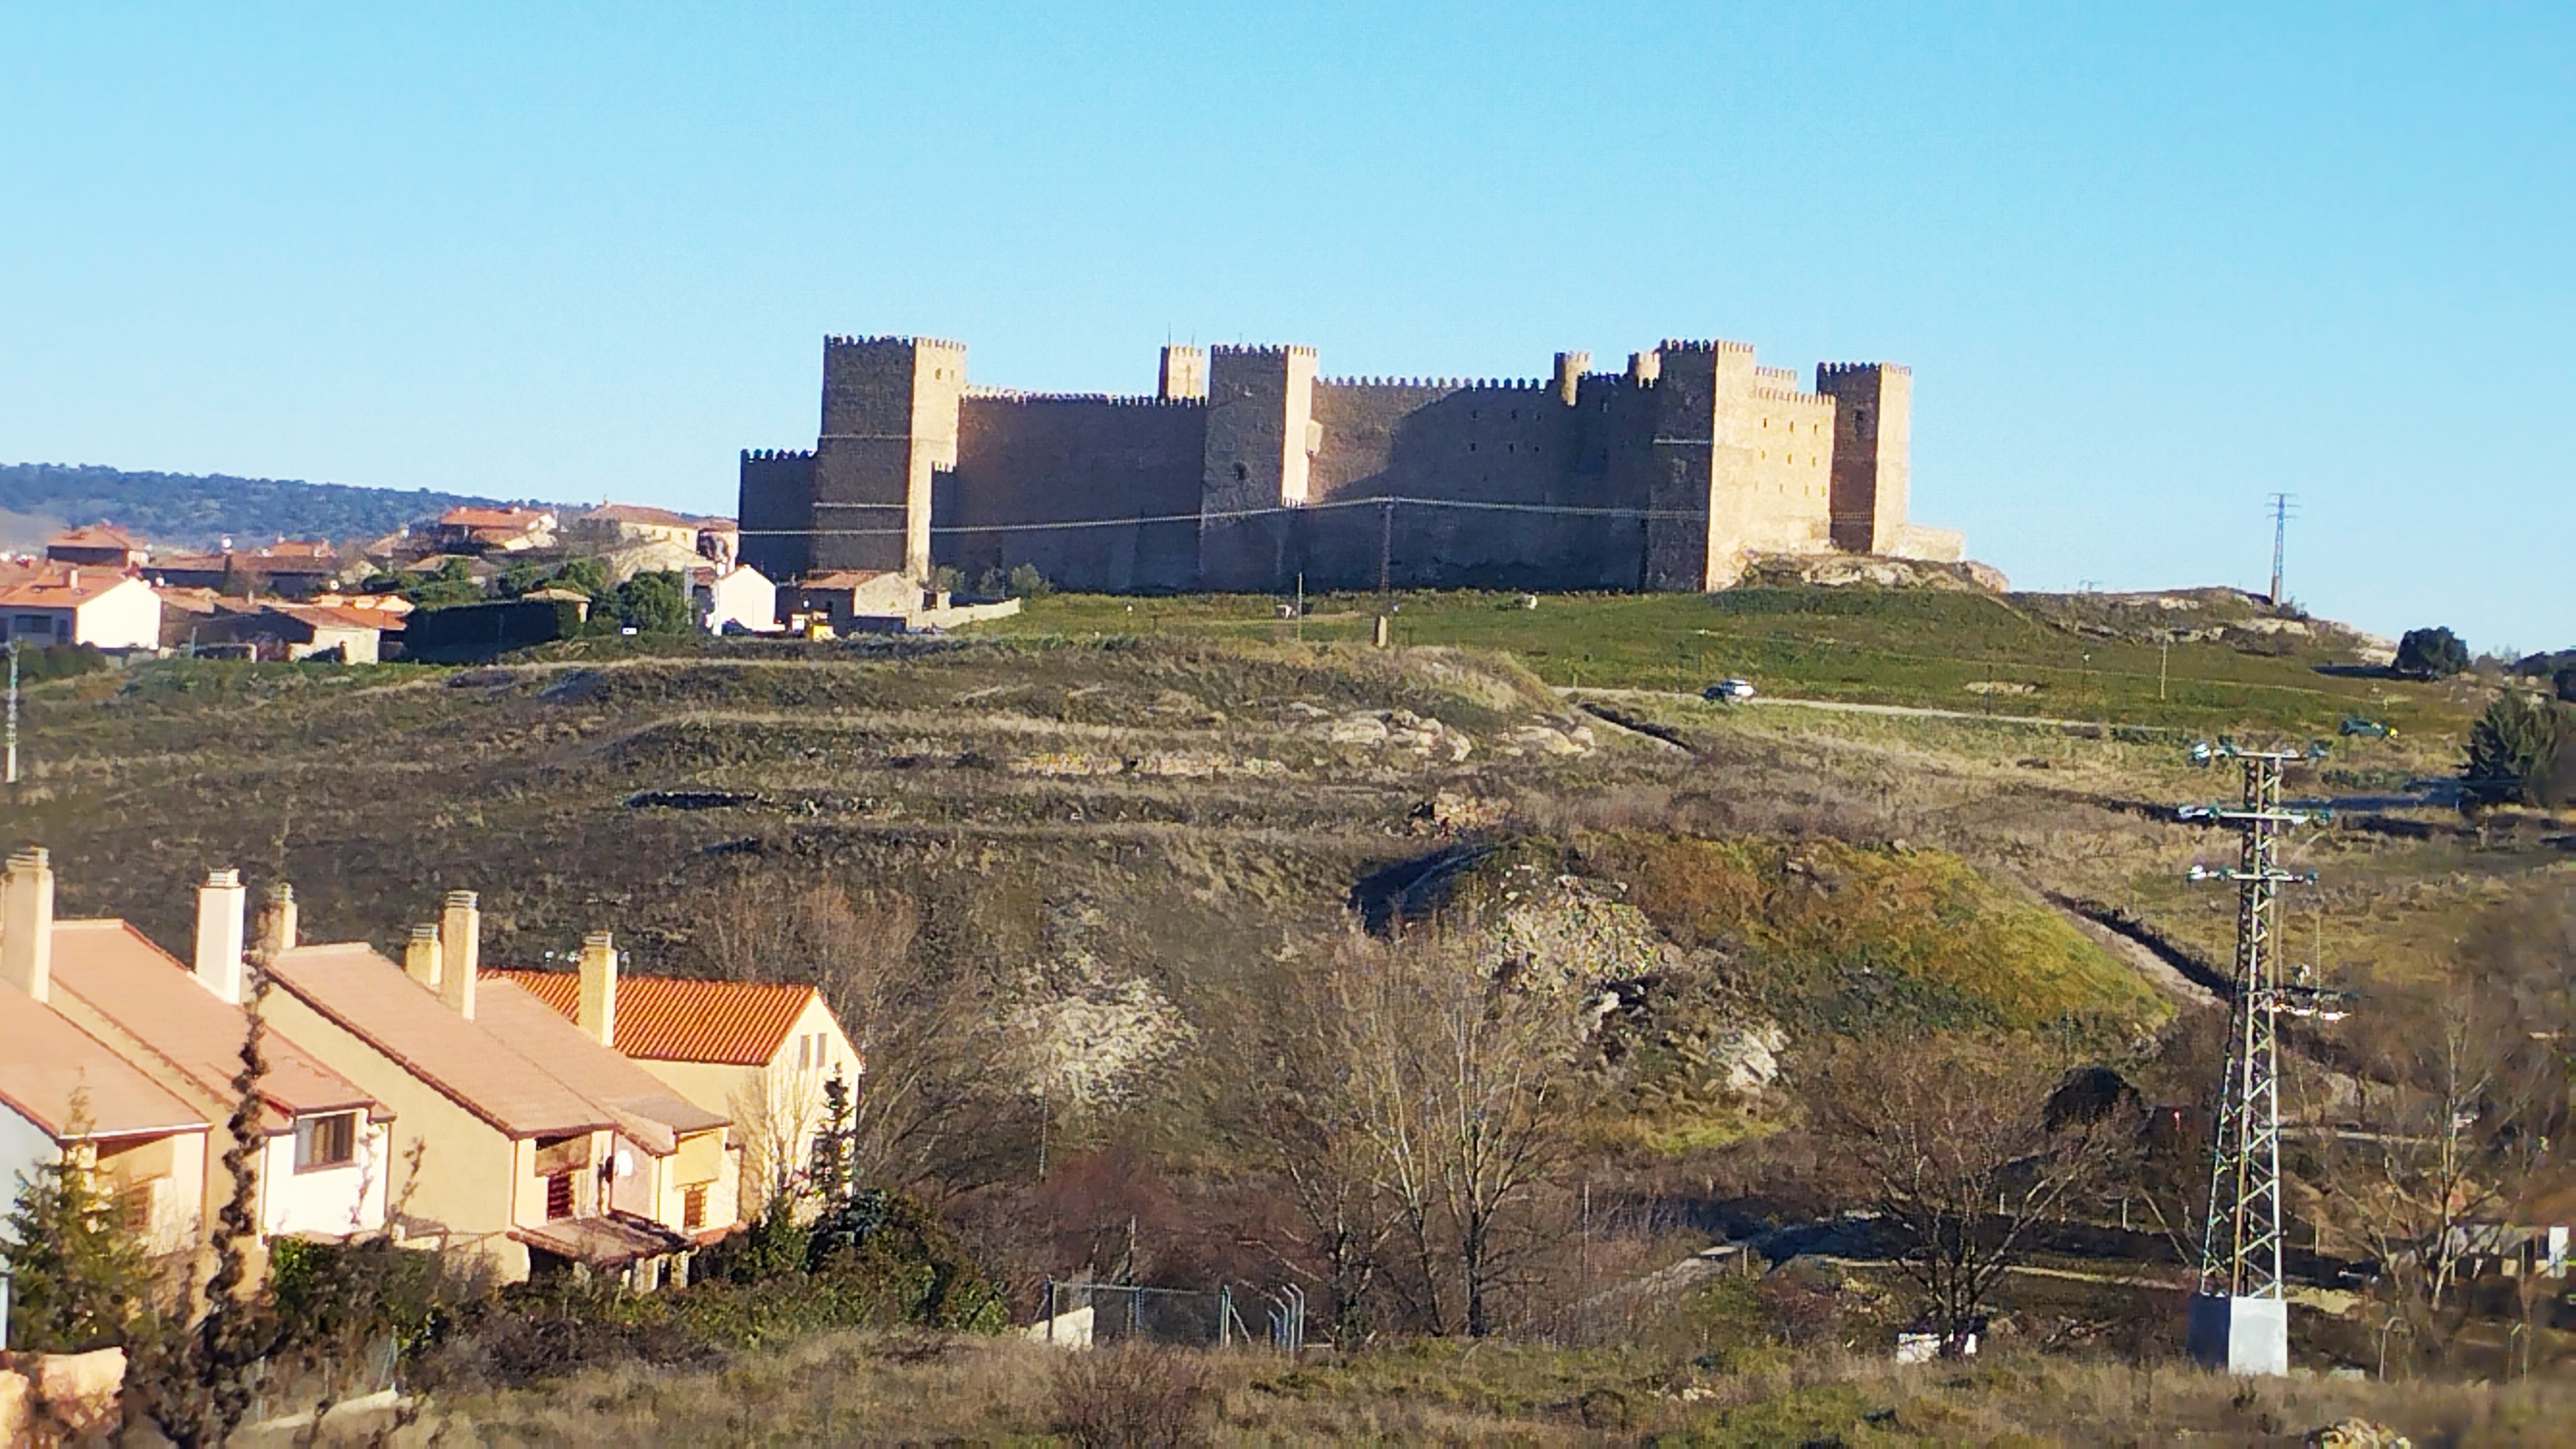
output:
[[[2571,222],[2563,5],[0,3],[0,462],[729,511],[822,333],[1723,335],[1911,364],[2022,585],[2262,585],[2293,490],[2311,608],[2561,647]]]

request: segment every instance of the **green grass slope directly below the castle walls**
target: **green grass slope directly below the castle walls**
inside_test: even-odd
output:
[[[1316,596],[1303,619],[1278,619],[1278,606],[1270,596],[1051,596],[976,632],[1350,642],[1368,637],[1376,596]],[[2324,639],[2236,632],[2231,639],[2249,647],[2195,639],[2169,650],[2151,639],[2151,627],[2262,616],[2218,598],[2138,619],[2084,598],[1883,588],[1587,593],[1546,596],[1538,608],[1520,608],[1517,593],[1399,593],[1394,606],[1399,645],[1507,650],[1551,686],[1698,691],[1747,676],[1798,699],[2182,730],[2331,732],[2344,714],[2370,714],[2401,730],[2458,732],[2468,717],[2442,686],[2321,673],[2352,663]]]

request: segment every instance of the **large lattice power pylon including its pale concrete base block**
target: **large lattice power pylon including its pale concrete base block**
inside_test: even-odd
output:
[[[2321,753],[2321,750],[2316,750]],[[2210,1142],[2210,1212],[2200,1232],[2200,1289],[2190,1307],[2190,1354],[2231,1374],[2290,1372],[2290,1307],[2282,1299],[2280,1227],[2280,1036],[2277,1018],[2318,1016],[2318,1003],[2344,998],[2282,985],[2280,887],[2313,882],[2280,866],[2280,833],[2316,820],[2282,810],[2280,771],[2311,750],[2249,750],[2228,740],[2192,745],[2192,763],[2236,761],[2244,794],[2236,807],[2187,804],[2182,820],[2236,830],[2236,869],[2192,866],[2190,879],[2236,882],[2236,972],[2228,1021],[2228,1067]],[[2339,1013],[2334,1013],[2339,1016]]]

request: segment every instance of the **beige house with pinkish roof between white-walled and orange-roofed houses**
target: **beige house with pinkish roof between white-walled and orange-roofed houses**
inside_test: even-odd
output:
[[[276,1031],[389,1104],[392,1222],[505,1279],[569,1263],[659,1281],[734,1227],[726,1119],[528,993],[479,982],[482,913],[448,892],[397,967],[366,944],[270,941]]]

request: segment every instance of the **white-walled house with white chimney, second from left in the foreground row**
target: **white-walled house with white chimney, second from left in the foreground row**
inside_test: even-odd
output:
[[[224,1124],[240,1093],[250,1016],[242,951],[247,892],[237,871],[211,871],[196,892],[196,964],[124,920],[54,923],[52,1006],[106,1042],[209,1124]],[[337,1240],[384,1227],[392,1111],[276,1031],[263,1034],[255,1222],[263,1238]],[[232,1196],[224,1152],[204,1142],[204,1222]]]

